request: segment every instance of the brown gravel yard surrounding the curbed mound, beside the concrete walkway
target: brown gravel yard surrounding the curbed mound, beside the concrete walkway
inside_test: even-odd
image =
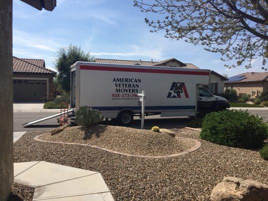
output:
[[[115,200],[209,200],[225,176],[267,184],[268,161],[257,151],[225,147],[199,139],[199,132],[173,129],[177,136],[198,139],[200,149],[186,155],[151,159],[103,150],[37,142],[29,132],[14,144],[15,162],[43,160],[102,173]]]

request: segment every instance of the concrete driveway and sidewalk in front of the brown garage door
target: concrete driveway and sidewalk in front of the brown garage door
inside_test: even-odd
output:
[[[43,109],[42,103],[15,103],[13,113],[59,113],[60,109]]]

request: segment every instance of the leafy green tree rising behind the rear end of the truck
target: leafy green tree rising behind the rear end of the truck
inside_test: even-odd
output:
[[[85,53],[81,47],[69,45],[68,47],[61,47],[56,53],[55,68],[59,74],[57,76],[61,88],[70,91],[70,66],[76,61],[91,61],[94,62],[94,57],[90,52]]]

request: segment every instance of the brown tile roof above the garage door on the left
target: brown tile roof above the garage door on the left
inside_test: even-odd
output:
[[[36,65],[35,63],[30,62],[31,59],[21,59],[13,56],[13,72],[15,73],[48,73],[56,74],[53,70],[47,69],[45,67]],[[37,61],[41,64],[41,61]]]

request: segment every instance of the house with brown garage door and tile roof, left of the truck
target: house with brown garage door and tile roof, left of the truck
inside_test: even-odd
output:
[[[53,96],[56,72],[45,67],[43,59],[13,57],[14,102],[39,102]]]

